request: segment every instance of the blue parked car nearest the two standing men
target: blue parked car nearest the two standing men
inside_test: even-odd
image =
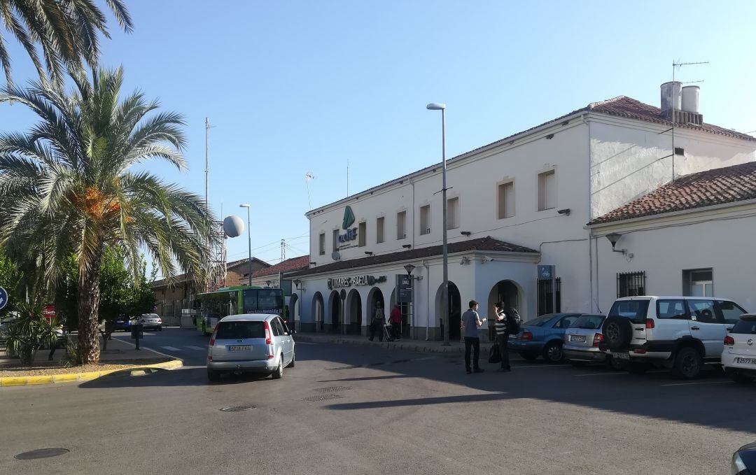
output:
[[[525,322],[517,335],[510,335],[510,350],[525,359],[544,356],[547,362],[557,363],[564,359],[562,342],[565,330],[582,313],[547,313]]]

